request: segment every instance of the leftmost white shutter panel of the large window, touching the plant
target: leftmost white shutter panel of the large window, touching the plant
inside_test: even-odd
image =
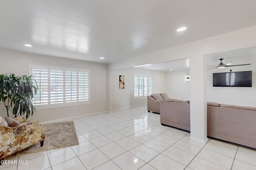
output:
[[[37,105],[48,104],[48,70],[32,69],[32,74],[39,86],[39,90],[33,101]]]

